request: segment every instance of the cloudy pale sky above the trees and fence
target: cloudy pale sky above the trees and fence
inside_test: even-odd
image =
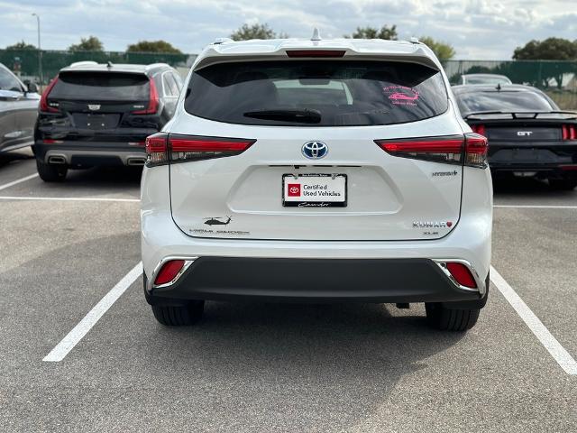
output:
[[[357,26],[397,24],[399,37],[428,35],[455,59],[506,60],[531,39],[577,39],[577,0],[0,0],[0,48],[16,41],[64,50],[95,35],[105,50],[139,40],[169,41],[195,53],[243,23],[269,23],[291,37],[342,37]]]

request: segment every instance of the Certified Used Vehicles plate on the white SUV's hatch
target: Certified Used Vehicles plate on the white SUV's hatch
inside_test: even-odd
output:
[[[284,174],[282,206],[345,207],[346,174]]]

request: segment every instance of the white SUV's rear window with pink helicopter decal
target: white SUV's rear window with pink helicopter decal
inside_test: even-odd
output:
[[[400,124],[446,111],[441,73],[415,63],[352,60],[221,63],[192,74],[185,108],[233,124]]]

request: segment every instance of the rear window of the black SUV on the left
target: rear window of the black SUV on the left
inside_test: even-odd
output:
[[[50,99],[146,101],[149,79],[144,74],[119,72],[60,72]]]

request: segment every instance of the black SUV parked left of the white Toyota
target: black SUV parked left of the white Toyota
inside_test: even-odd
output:
[[[144,141],[174,115],[182,80],[164,63],[73,63],[40,101],[32,151],[42,180],[69,169],[143,165]]]

